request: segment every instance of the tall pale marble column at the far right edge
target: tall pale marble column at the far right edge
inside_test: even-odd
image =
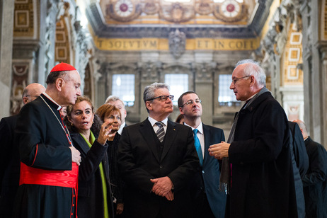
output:
[[[304,48],[304,121],[309,129],[310,136],[324,144],[324,120],[326,119],[323,108],[323,76],[321,42],[319,41],[319,13],[320,2],[304,1],[301,10],[303,22],[303,48]],[[309,16],[308,16],[309,15]]]

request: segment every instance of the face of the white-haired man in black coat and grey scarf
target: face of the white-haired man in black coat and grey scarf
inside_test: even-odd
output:
[[[233,74],[231,74],[231,86],[229,88],[234,91],[236,100],[246,101],[251,97],[251,76],[246,76],[243,69],[246,64],[237,66]]]

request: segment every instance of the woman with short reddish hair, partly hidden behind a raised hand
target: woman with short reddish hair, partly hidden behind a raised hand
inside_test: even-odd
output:
[[[116,132],[115,137],[108,138],[108,159],[109,159],[109,170],[110,170],[110,182],[111,190],[114,197],[114,207],[115,214],[120,215],[124,210],[123,203],[123,183],[120,178],[120,173],[117,167],[117,152],[118,143],[120,141],[120,134],[117,131],[122,124],[120,120],[121,114],[120,110],[114,105],[104,104],[98,110],[96,110],[96,115],[103,121],[108,122],[111,127],[111,132]]]

